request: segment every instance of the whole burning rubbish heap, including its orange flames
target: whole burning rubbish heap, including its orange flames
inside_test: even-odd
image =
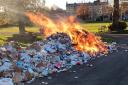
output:
[[[46,28],[46,38],[26,48],[16,42],[0,47],[0,84],[5,83],[5,80],[19,83],[66,71],[73,65],[86,63],[92,56],[105,54],[108,47],[113,50],[112,46],[105,45],[99,37],[78,29],[81,27],[74,21],[70,20],[71,23],[66,25],[63,22],[55,25],[45,16],[40,15],[40,19],[34,14],[27,15],[36,24]]]

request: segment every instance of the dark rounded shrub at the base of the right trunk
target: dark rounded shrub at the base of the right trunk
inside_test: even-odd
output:
[[[127,23],[120,21],[117,24],[111,24],[109,25],[110,31],[124,31],[127,28]]]

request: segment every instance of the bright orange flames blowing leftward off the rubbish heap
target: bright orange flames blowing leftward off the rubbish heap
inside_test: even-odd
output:
[[[107,46],[100,37],[85,31],[73,16],[68,17],[67,20],[53,21],[40,13],[26,13],[26,15],[33,23],[44,28],[45,37],[57,32],[65,32],[70,36],[77,50],[85,51],[90,55],[107,52]]]

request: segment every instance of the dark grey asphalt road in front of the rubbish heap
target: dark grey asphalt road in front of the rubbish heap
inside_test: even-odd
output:
[[[128,35],[107,35],[118,43],[128,43]],[[108,56],[25,85],[128,85],[128,51],[119,49]]]

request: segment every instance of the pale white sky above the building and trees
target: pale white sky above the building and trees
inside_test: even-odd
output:
[[[94,0],[45,0],[46,6],[51,7],[56,5],[62,9],[66,9],[66,2],[68,3],[77,3],[77,2],[93,2]]]

